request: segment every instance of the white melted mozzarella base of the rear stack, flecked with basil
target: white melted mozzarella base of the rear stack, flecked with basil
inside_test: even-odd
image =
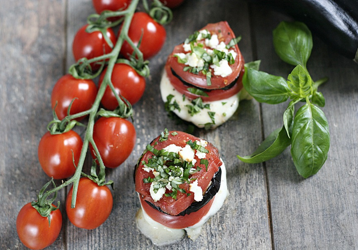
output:
[[[169,94],[174,95],[171,103],[173,103],[175,100],[179,104],[180,111],[178,111],[178,109],[175,109],[173,112],[183,120],[192,122],[195,126],[199,128],[203,128],[205,123],[212,123],[208,111],[215,112],[215,124],[212,125],[212,128],[216,128],[226,122],[235,113],[237,107],[239,106],[240,92],[236,95],[233,95],[232,97],[219,101],[203,102],[204,105],[210,104],[210,110],[204,108],[199,113],[190,116],[190,114],[188,113],[188,108],[185,107],[185,105],[192,105],[192,103],[188,98],[185,98],[185,100],[183,101],[183,94],[179,93],[173,87],[173,85],[171,85],[165,70],[160,81],[160,93],[163,102],[166,102],[166,97]],[[225,104],[223,105],[223,103]]]

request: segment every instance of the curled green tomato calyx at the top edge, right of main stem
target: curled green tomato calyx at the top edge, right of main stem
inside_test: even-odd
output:
[[[173,19],[171,10],[164,6],[159,0],[154,0],[150,8],[147,1],[143,1],[143,6],[151,18],[161,25],[168,24]]]

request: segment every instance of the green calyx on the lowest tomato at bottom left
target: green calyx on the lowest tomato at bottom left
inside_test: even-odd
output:
[[[33,206],[33,208],[36,209],[42,217],[47,217],[48,218],[49,226],[51,224],[51,220],[50,220],[51,212],[57,210],[59,208],[59,206],[60,206],[59,201],[57,202],[57,206],[52,205],[52,203],[57,198],[57,191],[54,192],[54,195],[53,195],[52,198],[48,199],[48,196],[50,194],[46,191],[46,189],[51,183],[53,184],[54,188],[56,188],[55,182],[53,181],[53,178],[52,178],[37,193],[37,201],[31,202],[31,206]]]

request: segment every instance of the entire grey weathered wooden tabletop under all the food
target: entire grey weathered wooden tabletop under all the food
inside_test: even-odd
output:
[[[94,13],[90,0],[0,0],[0,249],[26,249],[16,234],[16,216],[49,180],[37,147],[52,118],[50,94],[74,62],[74,33]],[[287,77],[292,66],[274,52],[272,30],[287,16],[237,0],[186,0],[166,26],[167,39],[151,59],[143,98],[134,106],[137,143],[120,167],[107,172],[115,181],[108,220],[95,230],[78,229],[67,219],[59,192],[62,231],[48,249],[157,249],[136,228],[139,201],[133,168],[145,145],[167,127],[184,130],[164,111],[159,80],[167,55],[194,30],[227,20],[246,62],[261,59],[261,70]],[[329,122],[328,160],[313,177],[296,172],[289,148],[262,164],[236,158],[248,155],[282,126],[281,105],[243,101],[223,126],[194,134],[215,144],[226,162],[230,196],[192,241],[168,249],[358,249],[358,65],[334,52],[314,35],[308,69],[326,98]],[[162,247],[166,249],[166,247]]]

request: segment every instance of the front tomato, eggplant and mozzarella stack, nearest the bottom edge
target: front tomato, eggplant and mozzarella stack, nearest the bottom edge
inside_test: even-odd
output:
[[[165,129],[147,145],[134,180],[141,204],[137,226],[156,245],[173,243],[185,231],[196,239],[228,195],[218,149],[180,131]]]

